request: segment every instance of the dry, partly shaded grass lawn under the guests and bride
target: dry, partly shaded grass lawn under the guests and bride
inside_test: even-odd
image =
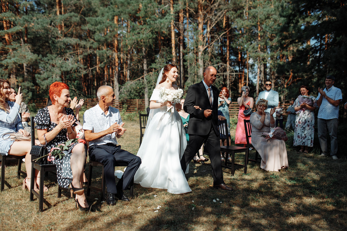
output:
[[[138,122],[126,121],[125,127],[122,149],[136,153]],[[28,190],[22,190],[23,179],[15,177],[13,161],[5,171],[8,184],[0,193],[0,230],[347,230],[346,158],[334,161],[315,152],[298,154],[290,142],[292,137],[287,142],[287,170],[266,172],[250,163],[247,174],[238,169],[231,176],[230,170],[223,169],[232,192],[209,186],[210,162],[191,162],[186,175],[191,193],[172,195],[135,185],[130,202],[107,206],[92,190],[87,200],[95,212],[86,214],[76,209],[68,193],[57,198],[53,174],[45,180],[49,192],[44,194],[51,207],[44,204],[44,212],[38,212],[37,199],[29,201]],[[237,155],[236,162],[243,157]],[[93,171],[99,182],[100,172]]]

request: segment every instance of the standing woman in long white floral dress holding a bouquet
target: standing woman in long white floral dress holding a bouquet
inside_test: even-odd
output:
[[[316,98],[308,95],[310,90],[306,86],[300,87],[301,96],[296,98],[294,128],[294,146],[300,146],[299,152],[308,153],[308,147],[313,146],[314,137],[314,109],[317,107]]]

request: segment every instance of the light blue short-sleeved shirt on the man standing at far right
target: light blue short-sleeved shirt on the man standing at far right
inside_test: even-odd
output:
[[[340,88],[332,86],[327,90],[327,88],[324,88],[323,90],[327,96],[332,100],[339,100],[342,99],[342,92]],[[321,94],[318,93],[318,96],[316,100],[321,97]],[[339,118],[339,106],[334,106],[329,103],[327,99],[323,97],[322,104],[319,107],[318,111],[318,118],[320,119],[335,119]]]

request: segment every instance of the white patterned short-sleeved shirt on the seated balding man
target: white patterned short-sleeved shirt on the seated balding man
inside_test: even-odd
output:
[[[105,131],[116,122],[122,124],[119,110],[109,106],[108,113],[105,115],[104,111],[100,108],[99,103],[86,110],[83,114],[83,129],[91,130],[93,133]],[[107,134],[97,140],[90,141],[89,145],[102,145],[107,143],[118,144],[116,132]]]

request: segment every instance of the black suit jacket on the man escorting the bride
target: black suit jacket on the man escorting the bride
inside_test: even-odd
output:
[[[212,107],[206,88],[202,81],[200,83],[189,86],[183,106],[184,110],[190,114],[188,122],[188,134],[207,135],[211,130],[211,126],[213,126],[216,135],[219,136],[217,127],[219,92],[216,87],[211,86],[211,88],[211,94],[213,94]],[[199,106],[201,110],[195,109],[194,106]],[[212,110],[212,115],[208,118],[204,117],[205,109]]]

